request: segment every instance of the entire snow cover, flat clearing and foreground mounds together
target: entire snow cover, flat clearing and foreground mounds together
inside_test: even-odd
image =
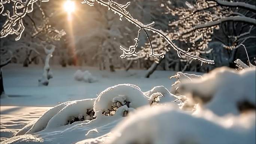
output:
[[[97,82],[76,81],[78,69]],[[52,70],[46,87],[38,86],[40,66],[3,69],[1,144],[255,143],[255,67],[149,79],[143,70]]]

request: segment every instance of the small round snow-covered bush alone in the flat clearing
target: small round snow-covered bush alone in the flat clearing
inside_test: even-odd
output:
[[[92,76],[92,74],[87,70],[84,72],[81,70],[77,70],[74,73],[74,79],[77,81],[84,81],[86,83],[93,83],[98,81],[96,77]]]

